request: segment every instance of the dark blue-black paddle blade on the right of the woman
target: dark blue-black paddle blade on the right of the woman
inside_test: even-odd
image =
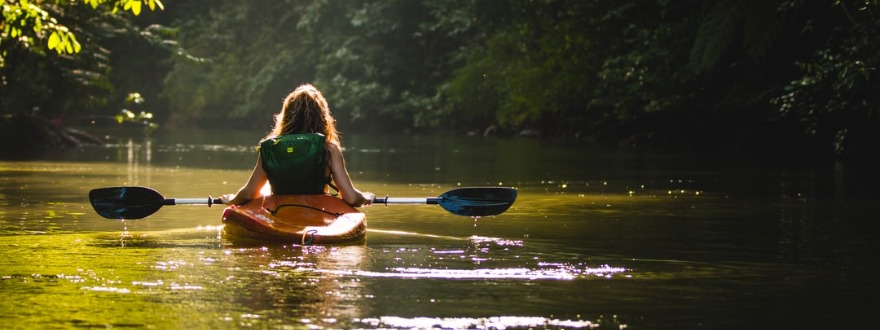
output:
[[[437,201],[447,211],[469,217],[498,215],[516,201],[516,189],[474,187],[450,190]]]

